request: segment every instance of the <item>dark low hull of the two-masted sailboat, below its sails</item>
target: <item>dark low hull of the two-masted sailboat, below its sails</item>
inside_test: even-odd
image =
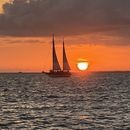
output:
[[[68,71],[50,71],[49,73],[46,73],[50,77],[70,77],[71,73]]]

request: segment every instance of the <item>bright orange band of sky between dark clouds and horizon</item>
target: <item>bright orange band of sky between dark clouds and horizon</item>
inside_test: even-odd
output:
[[[1,38],[0,71],[49,70],[51,68],[51,39],[51,37]],[[61,39],[56,39],[56,49],[62,64]],[[130,70],[130,46],[79,45],[78,43],[70,45],[69,40],[70,38],[66,40],[66,52],[73,71],[77,71],[76,63],[79,58],[88,60],[89,70],[92,71]]]

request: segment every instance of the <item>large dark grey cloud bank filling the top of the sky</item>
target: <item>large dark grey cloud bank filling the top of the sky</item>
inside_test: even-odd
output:
[[[0,35],[130,34],[130,0],[13,0],[3,10]]]

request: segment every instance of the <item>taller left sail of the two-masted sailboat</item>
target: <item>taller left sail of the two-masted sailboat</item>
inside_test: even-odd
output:
[[[56,56],[56,50],[55,50],[55,41],[54,41],[54,35],[53,35],[53,48],[52,48],[52,52],[53,52],[53,71],[61,71],[61,67],[59,65],[59,62],[58,62],[58,59],[57,59],[57,56]]]

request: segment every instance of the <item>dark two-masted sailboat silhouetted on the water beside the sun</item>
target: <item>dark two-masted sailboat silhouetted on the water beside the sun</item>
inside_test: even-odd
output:
[[[70,72],[70,66],[67,60],[66,56],[66,51],[65,51],[65,43],[63,39],[63,69],[61,69],[57,55],[56,55],[56,50],[55,50],[55,39],[53,35],[53,40],[52,40],[52,69],[50,70],[48,74],[49,76],[52,77],[70,77],[71,72]]]

